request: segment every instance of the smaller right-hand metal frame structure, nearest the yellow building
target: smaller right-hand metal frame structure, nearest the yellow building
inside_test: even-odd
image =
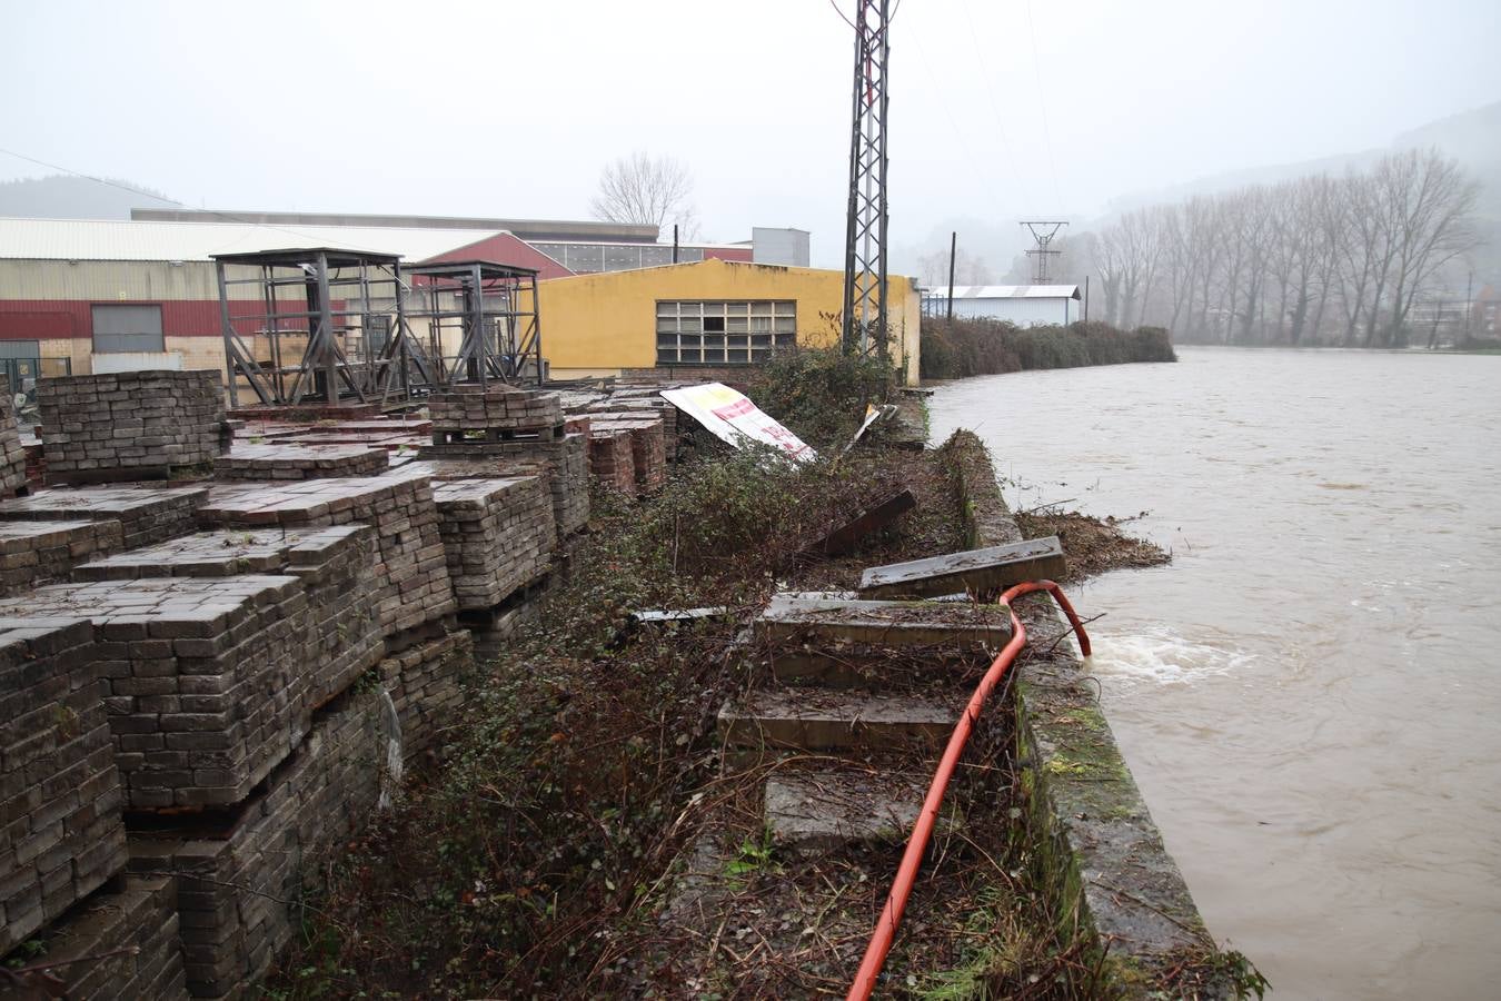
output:
[[[428,357],[440,383],[489,381],[542,386],[542,321],[537,272],[494,261],[444,261],[407,269],[404,315],[428,321]],[[444,335],[458,333],[447,356]]]

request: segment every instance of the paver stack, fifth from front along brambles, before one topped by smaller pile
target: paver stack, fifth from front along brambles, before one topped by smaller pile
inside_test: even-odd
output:
[[[489,609],[551,566],[552,503],[536,476],[432,488],[459,611]]]

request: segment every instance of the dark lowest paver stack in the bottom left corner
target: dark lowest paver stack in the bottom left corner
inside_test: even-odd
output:
[[[45,971],[54,983],[44,986],[36,974],[20,974],[8,989],[0,978],[0,999],[62,996],[59,989],[69,1001],[186,998],[177,933],[177,881],[126,876],[119,888],[95,893],[41,936],[45,962],[57,963]]]

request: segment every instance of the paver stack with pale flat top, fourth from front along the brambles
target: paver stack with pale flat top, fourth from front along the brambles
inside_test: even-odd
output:
[[[423,474],[303,480],[284,486],[215,488],[200,519],[216,528],[375,528],[375,611],[387,642],[453,615],[453,585],[432,486]]]

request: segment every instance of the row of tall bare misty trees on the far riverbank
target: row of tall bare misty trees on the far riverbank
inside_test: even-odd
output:
[[[1139,209],[1069,240],[1090,315],[1180,341],[1399,347],[1414,305],[1477,246],[1480,186],[1436,150]]]

